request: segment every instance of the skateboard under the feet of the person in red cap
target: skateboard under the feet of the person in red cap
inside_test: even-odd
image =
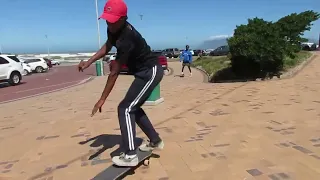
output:
[[[137,155],[139,159],[139,164],[137,166],[132,167],[119,167],[116,165],[111,165],[98,175],[96,175],[92,180],[115,180],[115,179],[122,179],[121,177],[125,176],[131,170],[136,169],[143,163],[145,166],[149,166],[149,159],[152,156],[152,151],[143,152],[137,150]]]

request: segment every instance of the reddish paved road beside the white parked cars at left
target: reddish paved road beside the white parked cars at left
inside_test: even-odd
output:
[[[24,76],[21,85],[7,86],[7,84],[1,84],[0,103],[76,85],[95,75],[94,68],[92,66],[85,72],[79,73],[76,66],[55,66],[47,73],[34,73],[30,76]]]

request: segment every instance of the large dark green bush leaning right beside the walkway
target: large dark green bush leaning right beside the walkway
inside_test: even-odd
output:
[[[293,13],[273,23],[260,18],[237,26],[228,39],[232,70],[242,77],[265,77],[284,68],[284,59],[300,51],[303,32],[320,15],[313,11]]]

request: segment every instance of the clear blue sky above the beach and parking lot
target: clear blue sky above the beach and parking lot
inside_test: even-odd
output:
[[[277,20],[293,12],[320,12],[319,0],[125,0],[129,22],[153,49],[194,48],[233,33],[248,18]],[[98,0],[99,14],[105,0]],[[92,51],[98,48],[95,0],[1,0],[0,45],[4,52]],[[139,14],[143,14],[142,20]],[[101,42],[106,25],[100,21]],[[320,21],[308,38],[318,39]],[[45,35],[48,35],[46,40]]]

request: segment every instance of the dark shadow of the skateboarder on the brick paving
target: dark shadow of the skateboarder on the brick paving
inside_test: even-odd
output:
[[[99,156],[101,153],[106,151],[107,149],[113,148],[116,145],[120,145],[120,147],[113,152],[110,153],[110,156],[113,157],[115,155],[119,155],[121,152],[123,152],[122,147],[122,137],[121,135],[117,134],[101,134],[96,137],[90,138],[86,141],[81,141],[79,144],[84,145],[90,141],[93,141],[90,144],[90,147],[100,147],[102,146],[96,153],[92,154],[89,157],[89,160],[94,159],[95,157]],[[139,147],[143,142],[143,139],[141,138],[136,138],[135,140],[135,146]]]

